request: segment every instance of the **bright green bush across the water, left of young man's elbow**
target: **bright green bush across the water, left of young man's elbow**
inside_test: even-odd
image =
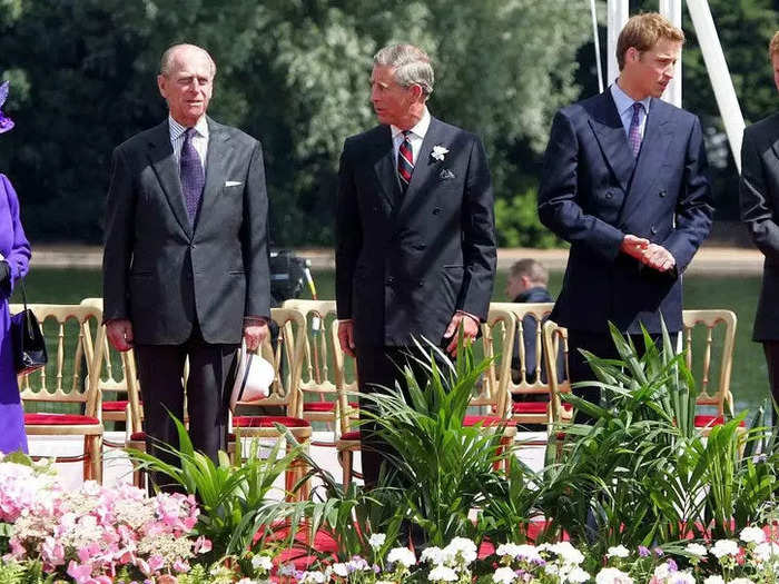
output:
[[[562,241],[539,220],[538,192],[530,188],[495,200],[495,227],[501,247],[560,247]]]

